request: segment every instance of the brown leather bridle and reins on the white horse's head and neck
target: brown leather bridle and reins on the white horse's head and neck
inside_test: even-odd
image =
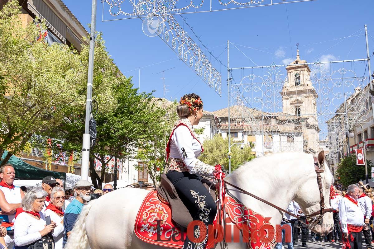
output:
[[[319,195],[321,197],[321,201],[319,202],[319,204],[321,206],[321,209],[319,211],[317,211],[317,212],[314,212],[313,214],[303,215],[303,217],[307,217],[307,218],[312,219],[313,221],[311,223],[312,224],[316,224],[316,223],[319,223],[321,221],[322,216],[325,213],[332,212],[334,209],[333,208],[325,208],[325,197],[324,197],[324,194],[322,193],[322,177],[321,177],[321,174],[320,174],[320,173],[323,173],[325,171],[325,169],[320,169],[320,164],[318,162],[318,159],[316,157],[313,157],[313,158],[314,158],[314,169],[315,169],[316,174],[317,174],[317,183],[318,183]],[[232,187],[240,190],[244,194],[248,194],[249,196],[252,196],[252,197],[254,197],[257,200],[260,200],[261,202],[264,202],[267,205],[272,206],[273,208],[278,209],[279,211],[283,211],[286,214],[291,215],[293,217],[296,217],[299,220],[301,218],[301,216],[296,215],[296,214],[292,214],[292,213],[284,210],[283,208],[280,208],[279,206],[276,206],[273,203],[268,202],[267,200],[264,200],[264,199],[262,199],[262,198],[260,198],[260,197],[258,197],[256,195],[254,195],[252,193],[249,193],[248,191],[245,191],[244,189],[241,189],[241,188],[235,186],[234,184],[228,183],[227,181],[225,181],[225,183],[227,185],[230,185],[230,186],[232,186]]]

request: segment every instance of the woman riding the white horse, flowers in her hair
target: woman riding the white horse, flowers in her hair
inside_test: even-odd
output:
[[[196,137],[193,125],[199,124],[203,116],[203,102],[194,93],[186,94],[179,102],[177,113],[180,119],[175,122],[166,145],[168,165],[165,167],[165,173],[193,220],[202,221],[206,226],[205,231],[201,228],[198,231],[197,226],[194,228],[194,234],[206,234],[202,242],[194,241],[194,238],[187,236],[182,249],[205,248],[208,225],[213,223],[217,207],[200,180],[201,175],[212,177],[217,172],[214,166],[197,159],[204,149]]]

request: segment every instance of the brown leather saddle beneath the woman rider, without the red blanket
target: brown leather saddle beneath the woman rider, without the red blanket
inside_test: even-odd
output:
[[[202,178],[201,182],[209,190],[214,200],[217,199],[214,189],[215,184],[206,178]],[[184,205],[180,197],[178,196],[177,190],[174,185],[166,177],[166,174],[161,175],[161,184],[157,189],[157,196],[160,201],[166,205],[170,205],[172,210],[178,210],[178,212],[172,212],[172,220],[182,228],[187,228],[188,224],[193,221],[193,218]]]

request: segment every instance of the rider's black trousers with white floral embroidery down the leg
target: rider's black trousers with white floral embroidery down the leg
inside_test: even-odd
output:
[[[166,176],[174,185],[193,220],[202,221],[205,224],[205,239],[202,242],[195,243],[194,238],[189,238],[187,235],[182,249],[205,249],[208,240],[208,225],[213,224],[217,207],[212,196],[200,181],[202,177],[197,174],[190,174],[187,171],[178,172],[174,170],[168,171]],[[201,232],[199,226],[196,225],[194,227],[194,237],[199,237]]]

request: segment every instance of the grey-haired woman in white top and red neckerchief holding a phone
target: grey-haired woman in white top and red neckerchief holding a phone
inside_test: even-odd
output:
[[[56,223],[46,225],[45,215],[41,212],[47,192],[42,188],[31,189],[21,202],[21,208],[16,211],[14,222],[15,249],[52,249],[53,238],[50,233]]]

